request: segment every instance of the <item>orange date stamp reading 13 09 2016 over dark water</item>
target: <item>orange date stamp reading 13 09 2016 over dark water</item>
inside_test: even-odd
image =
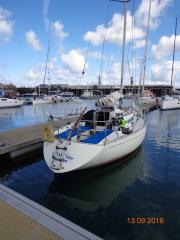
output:
[[[164,224],[163,217],[128,217],[128,224]]]

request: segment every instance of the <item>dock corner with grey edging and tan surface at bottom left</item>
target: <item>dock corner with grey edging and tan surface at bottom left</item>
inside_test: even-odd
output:
[[[0,184],[1,240],[100,240],[98,236]]]

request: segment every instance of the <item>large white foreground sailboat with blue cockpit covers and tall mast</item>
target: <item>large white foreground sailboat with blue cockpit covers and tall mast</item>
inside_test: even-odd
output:
[[[124,75],[127,1],[125,1],[124,35],[121,64],[121,90]],[[143,142],[146,122],[133,109],[121,108],[122,91],[97,101],[96,110],[80,114],[78,120],[53,131],[45,127],[44,158],[54,173],[67,173],[98,167],[120,160],[135,151]],[[51,118],[52,119],[52,118]]]

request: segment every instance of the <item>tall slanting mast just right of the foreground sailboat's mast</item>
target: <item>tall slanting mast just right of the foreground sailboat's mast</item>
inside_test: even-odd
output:
[[[146,43],[145,43],[144,57],[143,57],[143,76],[142,76],[143,85],[142,85],[142,92],[141,92],[142,96],[144,96],[144,83],[145,83],[145,77],[146,77],[147,45],[148,45],[148,35],[149,35],[150,14],[151,14],[151,0],[149,0],[148,23],[147,23],[147,29],[146,29]]]

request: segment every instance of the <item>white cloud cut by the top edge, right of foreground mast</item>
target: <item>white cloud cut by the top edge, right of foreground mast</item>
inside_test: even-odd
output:
[[[152,0],[150,28],[155,29],[159,26],[159,18],[164,14],[166,8],[172,3],[172,0]],[[142,0],[135,13],[135,22],[138,26],[146,27],[149,11],[149,0]]]

